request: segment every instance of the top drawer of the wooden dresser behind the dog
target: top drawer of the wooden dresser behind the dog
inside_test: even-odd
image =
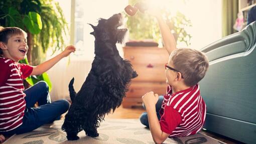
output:
[[[167,63],[168,51],[158,47],[123,47],[124,58],[136,63]]]

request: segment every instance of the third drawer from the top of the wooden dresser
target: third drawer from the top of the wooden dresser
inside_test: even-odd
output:
[[[129,91],[126,92],[126,97],[141,98],[145,93],[153,91],[159,95],[166,94],[166,82],[132,82]]]

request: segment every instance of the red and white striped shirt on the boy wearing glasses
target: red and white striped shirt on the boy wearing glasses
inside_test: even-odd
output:
[[[200,95],[199,85],[172,93],[168,86],[167,94],[159,113],[162,131],[170,133],[169,137],[187,136],[202,129],[206,105]]]

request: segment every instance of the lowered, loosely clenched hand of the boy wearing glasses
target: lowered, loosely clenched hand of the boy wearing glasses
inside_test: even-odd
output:
[[[142,96],[142,101],[145,104],[146,108],[151,106],[155,107],[158,101],[158,94],[154,94],[153,91],[147,92]]]

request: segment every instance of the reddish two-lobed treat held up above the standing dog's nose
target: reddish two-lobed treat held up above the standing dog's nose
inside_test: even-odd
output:
[[[137,13],[138,9],[142,12],[145,13],[145,10],[149,8],[148,4],[145,2],[137,2],[135,3],[134,6],[132,5],[127,5],[124,10],[127,14],[133,16]]]

